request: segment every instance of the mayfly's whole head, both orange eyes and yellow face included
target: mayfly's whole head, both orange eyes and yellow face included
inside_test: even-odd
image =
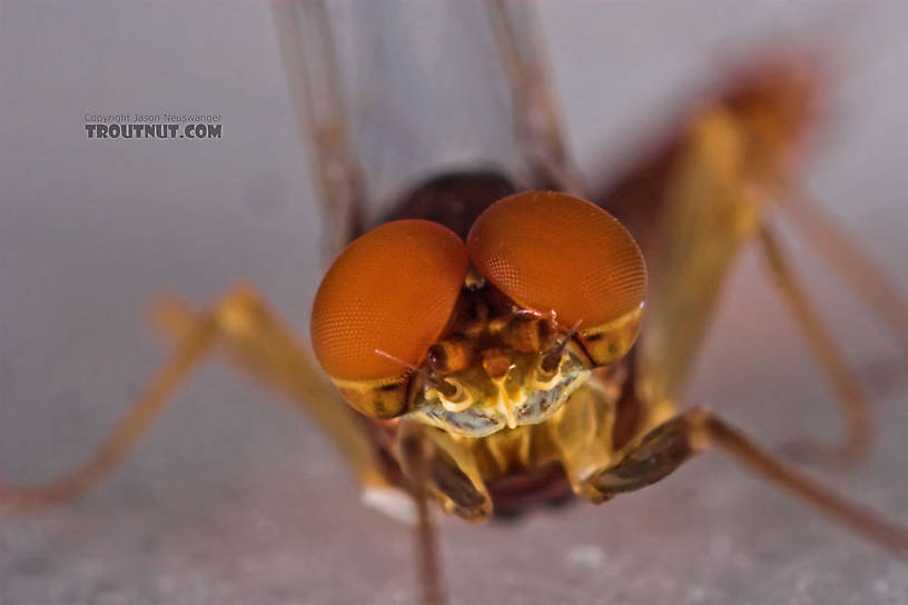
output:
[[[316,295],[313,348],[364,414],[482,436],[543,421],[591,368],[621,359],[645,291],[643,257],[608,212],[517,194],[466,242],[422,220],[354,241]]]

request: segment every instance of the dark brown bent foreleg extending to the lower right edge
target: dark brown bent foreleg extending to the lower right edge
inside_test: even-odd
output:
[[[736,462],[815,506],[878,546],[908,558],[908,529],[886,522],[807,476],[788,468],[733,426],[703,408],[692,408],[654,428],[612,467],[590,482],[606,497],[632,492],[665,477],[693,455],[715,447]]]

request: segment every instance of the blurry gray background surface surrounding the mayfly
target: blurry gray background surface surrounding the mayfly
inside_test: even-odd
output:
[[[412,7],[402,4],[402,14]],[[345,10],[351,10],[347,6]],[[728,56],[805,44],[830,69],[803,179],[908,284],[908,10],[789,2],[543,8],[588,175],[633,161]],[[217,141],[90,141],[86,112],[224,116]],[[159,366],[159,291],[257,284],[305,334],[320,272],[306,150],[256,2],[0,4],[0,470],[71,467]],[[898,350],[792,242],[872,383],[879,439],[818,476],[908,523]],[[837,435],[830,391],[754,255],[731,280],[688,399],[768,445]],[[455,603],[908,603],[908,567],[720,455],[603,507],[444,519]],[[358,503],[326,439],[211,364],[85,499],[3,517],[0,603],[411,603],[407,532]]]

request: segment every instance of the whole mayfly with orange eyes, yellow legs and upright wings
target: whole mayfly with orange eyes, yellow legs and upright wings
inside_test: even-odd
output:
[[[472,522],[572,496],[602,503],[709,448],[871,542],[908,549],[905,529],[790,469],[713,413],[678,411],[722,279],[756,241],[848,413],[848,438],[830,452],[852,459],[866,449],[860,391],[764,220],[772,204],[790,208],[905,337],[899,295],[788,178],[787,151],[809,120],[813,85],[789,63],[741,75],[652,162],[618,186],[588,189],[561,135],[532,13],[499,2],[487,10],[521,165],[437,175],[371,220],[367,201],[379,188],[352,145],[327,11],[276,6],[312,141],[326,256],[336,257],[312,324],[334,385],[251,288],[203,313],[164,305],[172,360],[86,466],[46,486],[2,487],[4,506],[65,502],[97,483],[223,345],[312,414],[368,503],[415,509],[427,603],[444,599],[431,502]]]

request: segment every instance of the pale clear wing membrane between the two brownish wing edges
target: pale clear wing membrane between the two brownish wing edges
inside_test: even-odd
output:
[[[483,2],[344,8],[342,71],[373,202],[452,168],[514,173],[507,85]]]

